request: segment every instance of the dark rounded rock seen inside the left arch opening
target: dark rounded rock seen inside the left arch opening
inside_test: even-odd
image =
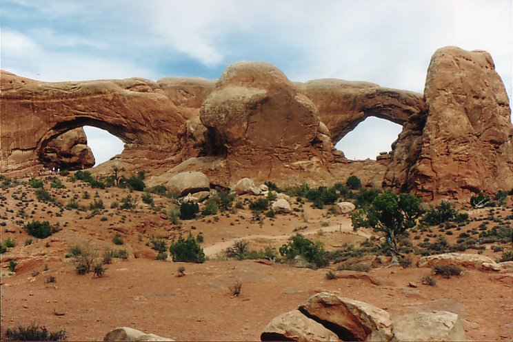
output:
[[[62,170],[92,168],[94,165],[94,155],[88,146],[83,128],[69,130],[48,142],[41,151],[39,160],[49,168]]]

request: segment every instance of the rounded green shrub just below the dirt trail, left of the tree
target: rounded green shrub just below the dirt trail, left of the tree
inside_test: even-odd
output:
[[[329,262],[323,243],[320,241],[314,243],[299,233],[291,237],[287,244],[282,245],[279,252],[285,260],[290,261],[301,256],[318,268],[328,265]]]

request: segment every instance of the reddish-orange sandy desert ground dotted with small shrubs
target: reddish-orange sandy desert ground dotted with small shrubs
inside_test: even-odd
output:
[[[177,341],[257,341],[274,316],[297,308],[317,292],[334,291],[376,305],[391,316],[455,312],[470,340],[513,340],[511,270],[463,268],[460,276],[446,279],[435,275],[432,268],[417,267],[421,256],[412,252],[408,254],[410,267],[391,266],[387,257],[371,257],[372,268],[367,272],[347,271],[353,278],[330,280],[326,273],[337,270],[340,263],[314,269],[269,259],[239,261],[225,254],[241,240],[248,241],[250,250],[269,247],[277,251],[297,232],[321,241],[328,251],[381,239],[370,229],[354,232],[350,214],[335,214],[330,206],[316,209],[308,201],[292,199],[295,210],[274,218],[263,215],[259,222],[248,208],[257,197],[244,194],[234,200],[241,201],[238,206],[242,208],[233,205],[227,212],[173,224],[168,210],[175,205],[174,199],[152,194],[154,204],[150,205],[141,201],[144,192],[91,188],[69,176],[39,178],[53,202],[38,200],[37,189],[28,178],[4,182],[0,188],[1,241],[14,241],[14,247],[1,254],[2,338],[6,329],[34,322],[49,330],[66,329],[70,341],[102,340],[120,326]],[[51,188],[54,179],[64,187]],[[112,208],[114,201],[121,203],[128,195],[135,199],[134,209]],[[84,210],[67,209],[71,199]],[[98,200],[104,208],[93,212],[90,203]],[[463,232],[477,237],[495,225],[511,227],[511,200],[510,196],[497,208],[460,205],[459,209],[470,215],[468,223],[416,230],[409,239],[418,246],[442,235],[454,244]],[[32,221],[49,221],[59,231],[36,239],[23,229]],[[152,239],[163,239],[169,247],[178,234],[187,236],[189,232],[203,236],[204,263],[175,263],[170,256],[155,259]],[[116,235],[122,243],[113,243]],[[501,252],[511,247],[511,241],[477,243],[462,253],[500,259]],[[124,249],[128,259],[112,259],[102,276],[92,272],[80,275],[70,255],[73,248],[96,253],[99,258],[104,250]],[[369,256],[349,261],[365,258]],[[17,263],[14,272],[9,269],[10,261]],[[382,264],[376,265],[378,261]],[[185,268],[184,276],[179,276],[179,267]],[[436,285],[423,285],[425,276],[432,276]],[[242,284],[241,293],[233,296],[229,288],[237,281]]]

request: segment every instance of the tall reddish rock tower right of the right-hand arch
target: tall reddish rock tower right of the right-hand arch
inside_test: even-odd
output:
[[[512,188],[510,103],[490,54],[436,50],[424,97],[429,114],[408,188],[426,199]]]

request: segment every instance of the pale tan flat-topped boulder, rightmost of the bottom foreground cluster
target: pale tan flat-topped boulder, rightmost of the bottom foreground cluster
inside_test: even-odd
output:
[[[419,312],[392,318],[394,341],[466,341],[463,323],[447,311]]]

